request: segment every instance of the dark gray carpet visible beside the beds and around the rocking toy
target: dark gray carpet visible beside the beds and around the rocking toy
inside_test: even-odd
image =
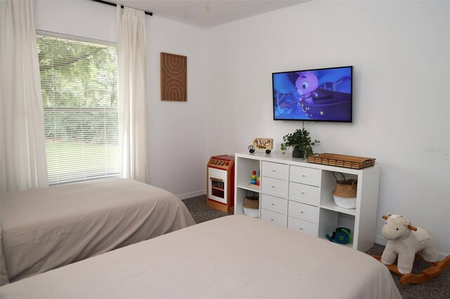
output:
[[[200,197],[192,197],[190,199],[184,199],[184,204],[191,212],[195,222],[205,222],[207,220],[212,220],[214,218],[224,217],[227,214],[224,212],[216,211],[212,208],[206,206],[206,196],[202,195]],[[382,245],[375,244],[366,253],[370,255],[381,255],[385,247]],[[413,266],[413,273],[419,274],[423,269],[428,267],[425,263],[416,261]],[[444,272],[425,284],[408,284],[406,286],[401,286],[399,283],[400,276],[392,273],[395,284],[404,299],[409,298],[450,298],[450,267],[447,267]]]

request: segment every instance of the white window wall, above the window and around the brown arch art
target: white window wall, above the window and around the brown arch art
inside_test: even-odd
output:
[[[115,42],[115,7],[36,1],[36,28]],[[146,16],[150,183],[181,199],[205,194],[205,30]],[[160,100],[160,52],[188,56],[188,102]]]

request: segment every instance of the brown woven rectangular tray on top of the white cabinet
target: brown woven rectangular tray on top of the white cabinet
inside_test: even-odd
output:
[[[346,156],[344,154],[313,154],[308,157],[308,162],[316,164],[325,164],[331,166],[340,166],[345,168],[361,169],[375,165],[375,159]]]

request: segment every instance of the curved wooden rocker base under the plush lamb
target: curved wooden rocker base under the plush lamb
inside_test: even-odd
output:
[[[379,260],[381,262],[380,256],[378,256],[378,255],[372,255],[372,256],[373,256],[373,258],[376,258],[377,260]],[[397,269],[397,265],[394,265],[394,264],[386,265],[386,267],[390,271],[397,273],[401,276],[400,284],[402,286],[404,286],[406,284],[423,284],[424,282],[430,281],[431,279],[435,279],[440,274],[442,274],[442,271],[444,271],[448,265],[450,265],[450,255],[447,255],[446,258],[444,258],[444,260],[442,260],[440,262],[436,262],[436,263],[430,263],[430,262],[426,261],[423,258],[421,253],[417,253],[416,258],[418,258],[418,260],[421,260],[432,266],[423,270],[422,273],[420,273],[420,274],[412,274],[412,273],[411,274],[401,274],[399,272],[399,270]]]

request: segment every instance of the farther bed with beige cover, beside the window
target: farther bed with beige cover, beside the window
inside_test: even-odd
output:
[[[174,194],[129,179],[6,192],[0,203],[3,283],[195,224]]]

